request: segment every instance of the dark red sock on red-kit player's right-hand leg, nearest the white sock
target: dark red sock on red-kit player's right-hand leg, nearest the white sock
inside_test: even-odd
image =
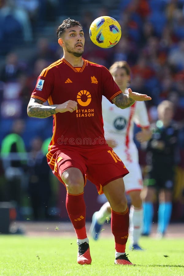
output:
[[[115,238],[115,249],[117,252],[125,252],[128,239],[129,212],[128,207],[125,212],[117,213],[112,210],[111,229]]]

